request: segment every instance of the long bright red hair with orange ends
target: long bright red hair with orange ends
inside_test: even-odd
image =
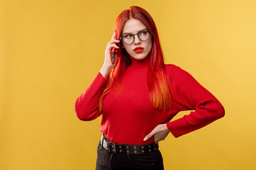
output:
[[[130,18],[140,20],[152,33],[152,49],[149,53],[150,64],[148,66],[148,89],[150,91],[150,101],[155,108],[162,111],[168,111],[172,105],[171,98],[171,84],[169,79],[164,74],[164,60],[162,49],[158,38],[157,28],[150,14],[145,9],[138,6],[131,6],[128,10],[123,11],[116,19],[115,31],[116,38],[120,40],[123,26]],[[111,69],[108,74],[108,84],[99,98],[99,113],[102,113],[102,103],[104,96],[108,94],[111,89],[116,89],[121,93],[122,88],[120,79],[131,63],[128,52],[122,48],[122,42],[118,43],[118,54],[116,57],[116,66]]]

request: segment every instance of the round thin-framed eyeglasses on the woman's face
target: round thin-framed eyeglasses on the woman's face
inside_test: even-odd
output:
[[[138,38],[142,41],[146,41],[150,38],[150,30],[142,30],[139,33],[136,34],[126,34],[121,37],[121,40],[127,45],[130,45],[134,42],[135,40],[135,35],[138,36]]]

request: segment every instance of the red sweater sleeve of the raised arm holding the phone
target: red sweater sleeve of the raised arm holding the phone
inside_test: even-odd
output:
[[[87,89],[77,98],[74,112],[80,120],[94,120],[99,117],[99,98],[108,78],[99,72]]]

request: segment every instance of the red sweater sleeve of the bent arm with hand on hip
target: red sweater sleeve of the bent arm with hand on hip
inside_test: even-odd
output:
[[[191,111],[189,115],[167,123],[167,128],[174,137],[202,128],[222,118],[225,110],[221,103],[207,91],[188,72],[174,66],[170,72],[174,76],[174,96],[179,111]]]

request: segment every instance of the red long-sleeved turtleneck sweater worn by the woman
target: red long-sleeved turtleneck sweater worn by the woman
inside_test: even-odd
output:
[[[150,103],[146,77],[149,59],[131,59],[132,64],[121,81],[123,94],[118,96],[118,92],[112,90],[104,97],[100,130],[108,140],[126,145],[148,144],[154,142],[153,137],[146,142],[144,137],[161,123],[167,123],[172,135],[179,137],[224,116],[221,103],[188,72],[174,64],[165,64],[164,68],[174,93],[172,110],[155,109]],[[77,98],[74,111],[80,120],[94,120],[100,116],[99,97],[107,82],[108,77],[104,78],[99,72]],[[194,111],[170,121],[179,111],[188,110]]]

